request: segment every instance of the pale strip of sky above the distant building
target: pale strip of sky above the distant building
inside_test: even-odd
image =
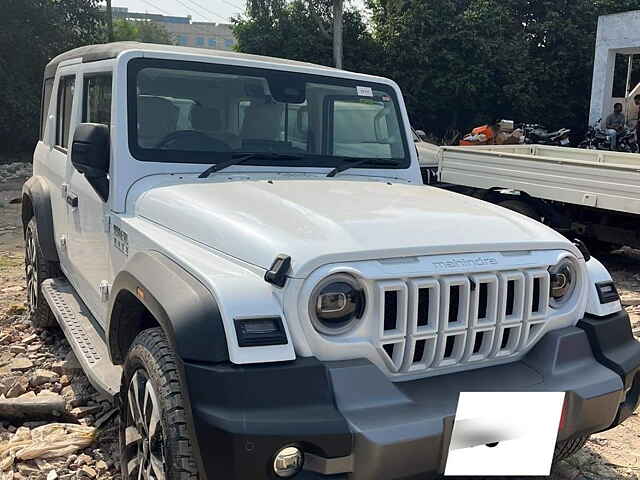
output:
[[[113,7],[130,12],[161,13],[191,18],[198,22],[229,23],[229,18],[244,12],[245,0],[111,0]]]

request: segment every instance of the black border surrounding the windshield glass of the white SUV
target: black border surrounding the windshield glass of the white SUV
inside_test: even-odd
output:
[[[407,169],[411,165],[411,155],[407,143],[406,127],[404,117],[398,95],[392,85],[379,82],[368,82],[361,79],[332,77],[319,75],[314,73],[300,73],[289,70],[269,69],[260,67],[238,66],[220,63],[208,63],[202,61],[191,60],[170,60],[161,58],[139,57],[133,58],[127,63],[127,132],[129,152],[136,160],[154,163],[188,163],[188,164],[205,164],[211,165],[218,161],[224,161],[228,158],[228,153],[215,151],[188,151],[188,150],[170,150],[158,148],[144,148],[138,144],[138,102],[137,102],[137,82],[138,73],[145,68],[166,68],[170,70],[191,70],[200,72],[222,73],[231,75],[247,75],[247,76],[264,76],[285,72],[296,75],[304,79],[305,82],[324,83],[329,85],[337,85],[344,87],[364,86],[371,87],[374,90],[383,91],[389,95],[393,101],[394,109],[397,116],[398,127],[402,141],[402,149],[404,157],[390,157],[388,160],[395,160],[397,165],[381,166],[373,162],[380,161],[381,158],[372,157],[372,164],[363,164],[359,168],[365,169]],[[234,151],[233,153],[236,153]],[[237,151],[237,153],[267,153],[254,151]],[[333,156],[326,154],[306,154],[299,160],[292,159],[252,159],[243,162],[242,165],[252,166],[287,166],[287,167],[314,167],[314,168],[335,168],[344,161],[344,156]],[[347,157],[359,160],[364,157]],[[386,158],[382,158],[385,160]]]

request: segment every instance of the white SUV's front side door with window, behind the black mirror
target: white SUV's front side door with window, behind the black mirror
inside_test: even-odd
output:
[[[81,77],[83,123],[111,126],[111,72],[84,73]],[[79,123],[78,122],[78,123]],[[72,282],[99,323],[104,324],[113,278],[109,253],[109,205],[84,175],[68,170],[67,256]]]

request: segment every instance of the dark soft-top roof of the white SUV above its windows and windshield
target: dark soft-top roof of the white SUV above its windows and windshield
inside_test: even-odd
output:
[[[140,42],[114,42],[114,43],[102,43],[98,45],[87,45],[84,47],[74,48],[68,52],[61,53],[51,60],[44,69],[44,78],[54,77],[58,65],[65,60],[72,60],[75,58],[82,59],[83,63],[97,62],[99,60],[107,60],[109,58],[116,58],[121,52],[125,50],[139,50],[147,52],[166,52],[166,53],[195,53],[198,55],[205,55],[215,58],[235,58],[245,60],[255,60],[267,63],[274,63],[280,65],[299,65],[306,67],[315,67],[325,70],[333,70],[334,68],[325,67],[323,65],[316,65],[307,62],[298,62],[295,60],[285,60],[275,57],[263,57],[260,55],[251,55],[247,53],[230,52],[227,50],[208,50],[204,48],[192,48],[192,47],[179,47],[176,45],[156,45],[154,43],[140,43]]]

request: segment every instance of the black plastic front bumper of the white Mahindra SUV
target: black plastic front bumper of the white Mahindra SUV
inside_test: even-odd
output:
[[[616,426],[638,405],[640,343],[620,312],[549,332],[517,362],[409,382],[314,358],[186,363],[185,375],[210,479],[275,478],[273,455],[291,444],[305,452],[296,478],[428,478],[444,470],[460,392],[565,391],[558,440]]]

